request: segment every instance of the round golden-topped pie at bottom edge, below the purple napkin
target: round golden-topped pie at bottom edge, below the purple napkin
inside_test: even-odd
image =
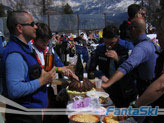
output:
[[[88,113],[75,114],[70,116],[70,119],[82,123],[96,123],[99,122],[100,120],[100,118],[97,115],[88,114]]]

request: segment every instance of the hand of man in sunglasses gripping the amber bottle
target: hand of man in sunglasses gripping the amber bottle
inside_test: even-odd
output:
[[[41,76],[38,79],[40,85],[45,85],[49,82],[52,82],[55,79],[55,76],[56,76],[56,67],[53,67],[49,72],[46,72],[44,69],[42,69]]]

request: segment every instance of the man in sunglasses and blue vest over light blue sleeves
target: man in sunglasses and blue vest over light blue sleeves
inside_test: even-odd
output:
[[[36,37],[37,26],[25,11],[14,11],[7,17],[10,40],[1,61],[3,95],[26,108],[46,108],[46,84],[56,75],[55,67],[44,71],[37,62],[28,42]],[[11,108],[6,106],[6,108]],[[7,123],[41,123],[41,115],[6,113]]]

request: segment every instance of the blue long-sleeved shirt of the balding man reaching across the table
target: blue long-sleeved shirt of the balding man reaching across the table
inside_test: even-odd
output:
[[[160,48],[154,44],[146,34],[140,35],[138,44],[132,50],[129,58],[120,65],[118,70],[124,75],[137,67],[139,78],[142,80],[152,80],[155,77],[155,65],[158,55],[155,51]]]

